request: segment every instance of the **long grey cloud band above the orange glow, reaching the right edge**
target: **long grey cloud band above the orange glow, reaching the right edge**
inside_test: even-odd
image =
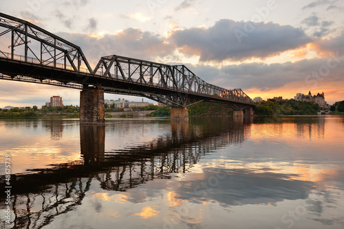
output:
[[[285,63],[231,64],[221,69],[197,65],[190,67],[206,82],[224,88],[257,88],[269,91],[281,88],[291,82],[304,82],[314,85],[319,82],[343,80],[344,56],[336,58],[314,58]]]

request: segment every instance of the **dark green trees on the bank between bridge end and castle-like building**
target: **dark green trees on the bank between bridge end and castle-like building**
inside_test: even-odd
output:
[[[319,104],[310,101],[260,101],[255,108],[255,115],[316,115],[320,111]]]

